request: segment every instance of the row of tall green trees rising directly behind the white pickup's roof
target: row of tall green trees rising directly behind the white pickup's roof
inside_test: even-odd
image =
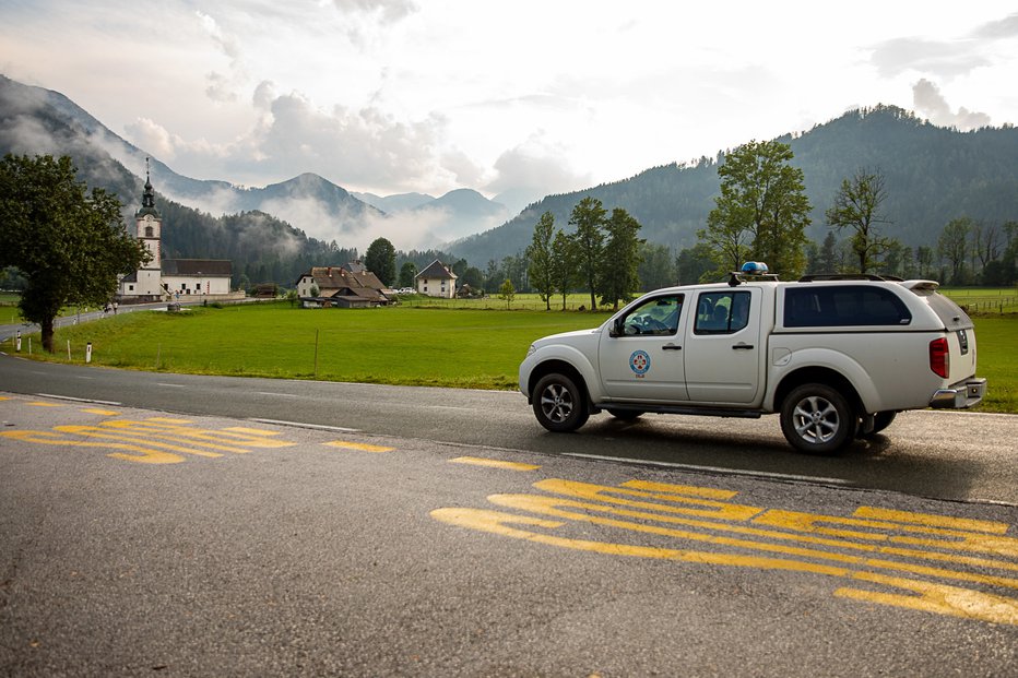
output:
[[[935,246],[912,250],[888,234],[893,224],[881,211],[887,181],[876,169],[861,168],[842,180],[825,213],[831,230],[821,245],[810,242],[803,234],[812,207],[803,173],[791,159],[791,146],[780,142],[750,142],[731,153],[718,169],[721,195],[707,228],[697,233],[696,248],[679,254],[677,267],[696,272],[696,279],[719,279],[739,262],[759,260],[788,279],[808,269],[937,277],[951,285],[1016,282],[1018,223],[955,218]]]

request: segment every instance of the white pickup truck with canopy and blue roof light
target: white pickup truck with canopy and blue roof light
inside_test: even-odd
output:
[[[571,431],[601,411],[779,413],[794,448],[828,454],[903,409],[983,399],[972,321],[937,283],[762,271],[659,289],[597,329],[537,340],[520,365],[537,420]]]

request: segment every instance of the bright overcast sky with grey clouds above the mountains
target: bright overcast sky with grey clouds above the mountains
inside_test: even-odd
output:
[[[893,104],[1018,122],[1018,9],[615,0],[0,0],[0,73],[176,171],[543,195]]]

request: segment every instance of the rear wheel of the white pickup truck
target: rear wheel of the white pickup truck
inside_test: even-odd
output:
[[[794,389],[781,404],[781,431],[806,454],[831,454],[855,438],[859,417],[838,391],[820,383]]]

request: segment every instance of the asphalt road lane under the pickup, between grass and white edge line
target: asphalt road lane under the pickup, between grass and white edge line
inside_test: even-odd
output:
[[[777,417],[599,415],[575,435],[546,432],[522,394],[60,366],[0,355],[0,390],[164,412],[268,419],[365,433],[560,455],[594,455],[937,499],[1018,505],[1018,416],[910,412],[833,457],[794,453]]]

